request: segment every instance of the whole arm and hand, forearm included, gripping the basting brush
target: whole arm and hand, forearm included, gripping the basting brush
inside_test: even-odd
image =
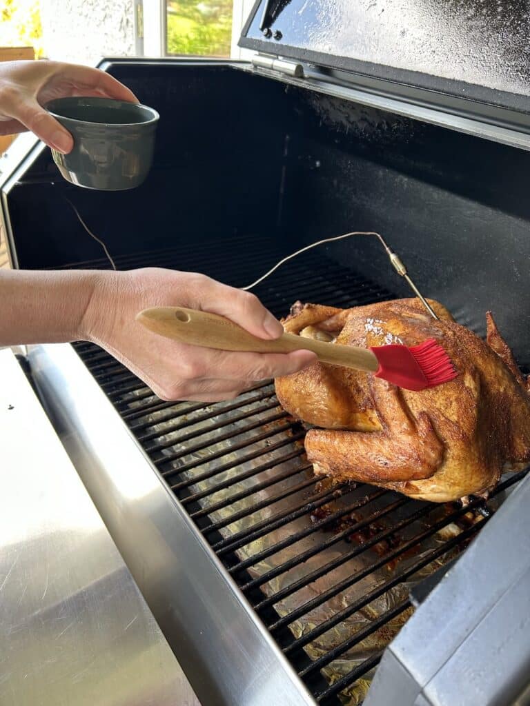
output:
[[[0,270],[0,346],[88,340],[163,399],[199,402],[232,400],[255,381],[296,373],[316,360],[307,350],[261,354],[179,343],[136,321],[152,306],[211,311],[265,340],[283,330],[253,294],[197,273]]]

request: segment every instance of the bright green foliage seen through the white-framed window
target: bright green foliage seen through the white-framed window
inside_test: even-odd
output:
[[[167,53],[230,56],[232,0],[167,0]]]

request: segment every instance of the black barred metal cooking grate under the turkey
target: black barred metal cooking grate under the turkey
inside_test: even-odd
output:
[[[175,250],[122,258],[120,268],[154,263],[189,267]],[[229,280],[216,258],[201,270]],[[242,285],[245,277],[242,254],[230,279]],[[257,294],[277,315],[305,297],[337,306],[390,297],[314,255]],[[304,429],[278,405],[271,383],[233,402],[163,402],[95,345],[75,348],[323,706],[362,702],[385,645],[411,613],[410,586],[461,551],[522,476],[469,508],[318,481]]]

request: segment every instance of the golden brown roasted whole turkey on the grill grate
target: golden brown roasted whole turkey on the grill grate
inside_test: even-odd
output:
[[[363,347],[435,338],[459,376],[411,392],[351,369],[316,363],[276,380],[281,405],[322,429],[305,438],[317,474],[446,502],[495,486],[502,467],[530,460],[530,397],[488,313],[488,342],[418,299],[333,309],[295,304],[289,333]]]

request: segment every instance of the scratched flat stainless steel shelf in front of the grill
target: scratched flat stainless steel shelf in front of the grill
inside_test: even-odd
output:
[[[0,703],[200,706],[11,350],[0,376]]]

